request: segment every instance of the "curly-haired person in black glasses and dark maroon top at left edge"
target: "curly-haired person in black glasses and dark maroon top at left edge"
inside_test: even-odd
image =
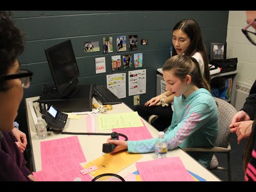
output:
[[[35,181],[12,133],[14,120],[33,73],[20,70],[23,34],[11,12],[0,11],[0,181]]]

